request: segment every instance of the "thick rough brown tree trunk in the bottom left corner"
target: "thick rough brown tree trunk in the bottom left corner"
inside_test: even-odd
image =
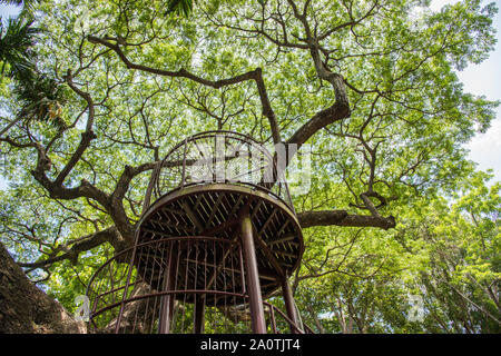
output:
[[[0,244],[0,334],[85,334],[57,301],[35,286]]]

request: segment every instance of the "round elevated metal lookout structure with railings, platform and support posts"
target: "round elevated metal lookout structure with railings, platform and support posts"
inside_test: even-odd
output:
[[[288,285],[304,245],[277,161],[232,131],[176,145],[151,174],[134,247],[90,280],[89,326],[105,333],[310,333]]]

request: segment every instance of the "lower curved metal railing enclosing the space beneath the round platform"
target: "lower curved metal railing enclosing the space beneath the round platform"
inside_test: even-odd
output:
[[[215,253],[208,254],[209,249]],[[170,289],[164,288],[168,257],[176,260],[169,266],[179,276]],[[204,271],[198,279],[197,271]],[[197,300],[204,300],[204,333],[252,333],[244,279],[237,240],[198,236],[138,244],[110,258],[92,276],[87,288],[89,327],[99,333],[158,333],[161,306],[173,296],[170,333],[194,332]],[[268,333],[307,332],[276,306],[264,305]]]

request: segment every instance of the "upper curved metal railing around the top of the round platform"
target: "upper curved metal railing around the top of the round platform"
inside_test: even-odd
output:
[[[206,131],[177,144],[151,175],[143,211],[167,192],[215,182],[252,187],[293,209],[284,168],[257,140],[233,131]]]

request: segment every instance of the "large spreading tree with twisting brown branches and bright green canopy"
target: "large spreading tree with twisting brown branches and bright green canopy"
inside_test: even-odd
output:
[[[385,231],[423,197],[454,190],[473,169],[462,145],[493,118],[495,103],[464,92],[455,70],[492,49],[494,4],[173,3],[187,2],[33,4],[39,86],[4,76],[0,87],[11,181],[0,234],[17,263],[70,306],[100,263],[131,246],[163,155],[188,135],[228,129],[312,146],[311,189],[294,196],[307,248],[295,287],[338,273],[391,293],[375,277],[399,270],[396,249],[375,253],[394,244]],[[367,236],[376,240],[361,244]],[[354,249],[380,267],[345,268]],[[333,250],[343,258],[322,269]]]

